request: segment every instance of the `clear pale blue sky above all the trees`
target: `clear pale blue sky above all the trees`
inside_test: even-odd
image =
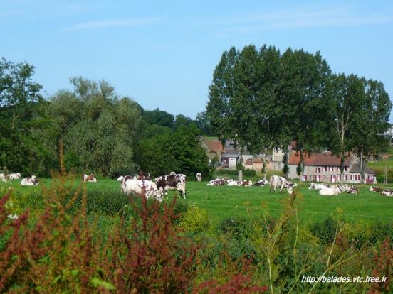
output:
[[[333,72],[380,80],[393,99],[392,1],[272,2],[0,0],[0,56],[36,66],[48,95],[82,75],[194,118],[221,53],[267,43],[320,50]]]

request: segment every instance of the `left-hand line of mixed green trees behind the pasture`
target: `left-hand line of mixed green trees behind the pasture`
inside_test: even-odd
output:
[[[48,176],[58,169],[62,141],[66,168],[75,173],[209,176],[198,137],[206,120],[145,110],[105,80],[83,77],[44,99],[33,74],[26,62],[0,60],[0,170]]]

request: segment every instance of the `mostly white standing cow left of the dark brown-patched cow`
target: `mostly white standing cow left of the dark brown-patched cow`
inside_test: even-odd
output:
[[[162,202],[162,195],[159,192],[157,185],[150,180],[135,180],[127,178],[122,181],[120,186],[123,193],[130,195],[145,196],[147,199],[156,197],[159,202]]]

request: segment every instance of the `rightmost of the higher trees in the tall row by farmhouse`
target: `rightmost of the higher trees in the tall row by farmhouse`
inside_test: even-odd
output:
[[[319,52],[315,55],[304,50],[288,48],[282,55],[283,77],[281,95],[285,97],[285,117],[290,124],[284,134],[292,134],[300,153],[303,178],[304,156],[327,146],[325,136],[330,128],[330,102],[327,84],[330,67]]]

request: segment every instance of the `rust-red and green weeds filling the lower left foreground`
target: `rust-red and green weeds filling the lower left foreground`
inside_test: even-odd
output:
[[[73,190],[74,183],[62,168],[51,188],[43,189],[45,209],[36,210],[36,221],[30,224],[29,211],[10,219],[6,205],[10,193],[1,197],[1,293],[189,293],[199,287],[205,293],[221,292],[221,287],[226,293],[255,293],[259,289],[243,266],[228,271],[225,281],[211,276],[196,281],[201,244],[175,225],[176,199],[169,205],[130,199],[133,213],[117,218],[110,228],[105,224],[103,231],[98,228],[102,222],[88,216],[85,184]]]

